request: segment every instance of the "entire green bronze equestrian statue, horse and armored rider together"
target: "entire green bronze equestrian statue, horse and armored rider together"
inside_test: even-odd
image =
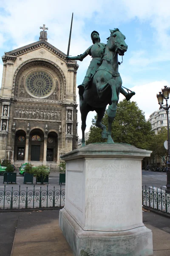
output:
[[[111,125],[116,116],[116,107],[119,101],[119,93],[122,93],[129,100],[135,92],[122,88],[122,79],[118,67],[118,54],[124,55],[127,51],[125,35],[119,29],[111,30],[111,36],[107,44],[100,43],[99,33],[93,31],[91,39],[93,45],[82,55],[67,57],[67,60],[74,59],[82,61],[87,55],[92,56],[85,79],[79,85],[80,112],[82,118],[82,146],[85,145],[86,118],[89,111],[96,111],[96,126],[102,129],[102,138],[107,138],[107,143],[114,143],[111,137]],[[129,93],[130,91],[130,93]],[[108,107],[108,131],[101,123]]]

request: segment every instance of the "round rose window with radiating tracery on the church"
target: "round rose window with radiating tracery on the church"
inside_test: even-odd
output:
[[[28,91],[37,97],[44,97],[51,93],[53,80],[51,76],[42,71],[31,73],[26,79]]]

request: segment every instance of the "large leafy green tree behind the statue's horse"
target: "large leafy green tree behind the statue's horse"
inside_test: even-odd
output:
[[[102,143],[101,129],[95,126],[97,116],[92,119],[90,135],[86,142]],[[102,123],[108,127],[107,111]],[[154,136],[150,122],[146,121],[144,112],[139,109],[136,102],[123,100],[118,103],[116,117],[112,124],[112,138],[115,143],[127,143],[137,148],[149,149]]]

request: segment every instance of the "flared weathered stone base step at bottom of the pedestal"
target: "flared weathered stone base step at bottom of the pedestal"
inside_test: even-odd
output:
[[[63,208],[59,212],[59,226],[75,256],[89,250],[95,256],[151,256],[152,232],[147,227],[126,231],[83,230]]]

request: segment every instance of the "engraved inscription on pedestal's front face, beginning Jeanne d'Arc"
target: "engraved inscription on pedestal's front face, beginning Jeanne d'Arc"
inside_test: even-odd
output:
[[[139,172],[135,171],[136,166],[132,163],[116,164],[116,160],[100,163],[96,162],[97,168],[90,168],[90,163],[88,169],[96,171],[89,171],[86,180],[88,205],[91,208],[88,214],[91,215],[91,221],[97,225],[99,219],[101,223],[108,227],[112,224],[114,228],[125,227],[125,223],[127,226],[135,224],[136,218],[138,219],[136,209],[140,207],[142,200],[141,179]],[[136,197],[136,194],[139,194],[139,197]],[[131,218],[129,215],[133,214],[134,218]]]

